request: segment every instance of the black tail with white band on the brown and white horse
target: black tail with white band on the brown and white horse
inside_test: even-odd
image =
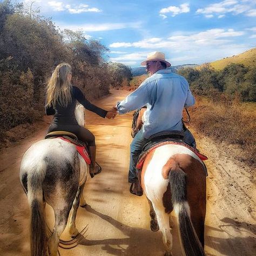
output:
[[[190,206],[186,199],[186,173],[181,169],[171,170],[169,181],[172,205],[178,216],[179,235],[186,256],[205,255],[190,218]]]

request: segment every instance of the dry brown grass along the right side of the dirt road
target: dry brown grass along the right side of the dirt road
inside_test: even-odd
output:
[[[256,104],[198,97],[190,112],[197,131],[240,148],[242,154],[236,157],[256,165]]]

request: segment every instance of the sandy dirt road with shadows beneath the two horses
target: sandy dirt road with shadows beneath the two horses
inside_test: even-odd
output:
[[[97,101],[97,105],[111,107],[127,93],[112,91],[110,96]],[[84,196],[89,206],[78,209],[78,229],[88,225],[84,239],[76,248],[60,249],[61,255],[163,255],[160,232],[150,231],[146,198],[129,193],[131,119],[131,113],[105,120],[86,111],[86,127],[96,136],[97,160],[103,171],[87,180]],[[22,154],[44,137],[47,126],[38,124],[26,140],[0,154],[0,255],[29,255],[29,207],[19,184],[18,167]],[[256,255],[253,170],[234,160],[232,149],[199,134],[196,136],[199,149],[209,158],[206,161],[209,173],[206,254]],[[50,207],[46,215],[52,225]],[[179,256],[176,226],[172,231],[173,255]],[[63,238],[68,238],[65,233]]]

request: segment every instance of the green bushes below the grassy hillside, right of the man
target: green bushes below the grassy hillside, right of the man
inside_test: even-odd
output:
[[[225,94],[226,100],[240,99],[244,102],[256,101],[256,68],[246,68],[242,64],[230,64],[217,71],[209,64],[200,70],[180,69],[179,74],[190,83],[194,94],[219,100]]]

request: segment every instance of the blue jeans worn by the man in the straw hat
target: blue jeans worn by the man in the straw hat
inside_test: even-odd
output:
[[[192,133],[187,129],[183,129],[184,132],[184,142],[196,148],[196,141]],[[136,175],[136,165],[140,153],[142,152],[143,147],[148,142],[148,139],[143,137],[142,130],[140,130],[130,145],[130,166],[129,166],[129,178],[128,182],[134,183],[138,180]]]

